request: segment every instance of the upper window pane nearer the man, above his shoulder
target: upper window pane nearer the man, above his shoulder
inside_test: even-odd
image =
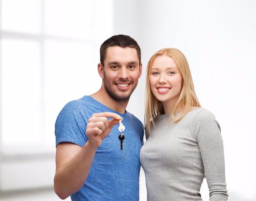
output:
[[[93,33],[92,1],[46,0],[45,32],[90,40]]]

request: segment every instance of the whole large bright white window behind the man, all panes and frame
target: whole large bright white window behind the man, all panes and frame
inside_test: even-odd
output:
[[[20,155],[29,160],[24,167],[47,154],[52,161],[58,113],[100,88],[99,46],[113,33],[113,6],[104,0],[1,0],[0,7],[0,171],[15,171],[8,165]]]

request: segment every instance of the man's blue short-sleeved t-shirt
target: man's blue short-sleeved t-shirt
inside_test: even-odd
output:
[[[67,103],[55,123],[56,146],[72,142],[84,146],[88,140],[85,130],[94,113],[115,112],[123,117],[125,125],[123,150],[120,149],[116,124],[98,147],[90,172],[83,187],[71,195],[73,201],[139,200],[139,152],[143,143],[144,128],[131,113],[118,113],[90,96]]]

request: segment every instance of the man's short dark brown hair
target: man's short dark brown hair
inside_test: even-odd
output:
[[[115,35],[105,40],[100,46],[100,63],[104,66],[104,60],[106,58],[107,48],[110,46],[119,46],[122,48],[135,48],[137,50],[139,63],[141,62],[141,51],[138,43],[130,36],[127,35]]]

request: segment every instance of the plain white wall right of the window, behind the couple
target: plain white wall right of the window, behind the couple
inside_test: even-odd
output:
[[[144,73],[128,111],[143,121],[149,58],[161,48],[180,49],[201,105],[222,128],[229,199],[256,200],[256,2],[140,0],[127,6],[116,0],[115,5],[114,34],[131,34],[142,49]],[[140,182],[140,198],[146,200],[143,175]],[[205,181],[201,193],[209,199]]]

